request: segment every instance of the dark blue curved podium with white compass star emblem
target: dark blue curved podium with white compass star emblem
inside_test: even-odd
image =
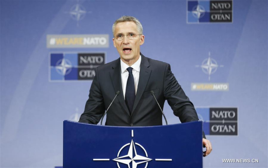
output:
[[[202,122],[98,126],[63,122],[63,168],[202,168]]]

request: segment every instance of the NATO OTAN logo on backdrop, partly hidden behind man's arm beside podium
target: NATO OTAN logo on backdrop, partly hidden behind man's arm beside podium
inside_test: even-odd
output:
[[[237,107],[196,108],[206,135],[238,135]]]

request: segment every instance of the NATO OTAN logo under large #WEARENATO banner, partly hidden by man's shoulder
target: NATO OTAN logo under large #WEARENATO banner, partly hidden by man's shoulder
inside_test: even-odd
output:
[[[50,53],[51,82],[93,80],[96,67],[105,64],[105,53]]]

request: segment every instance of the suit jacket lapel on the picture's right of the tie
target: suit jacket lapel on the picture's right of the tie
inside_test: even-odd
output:
[[[144,92],[144,89],[148,83],[149,77],[151,75],[152,69],[149,67],[150,63],[148,62],[147,58],[144,57],[141,54],[141,63],[140,63],[140,72],[139,72],[139,83],[137,88],[137,93],[133,105],[133,110],[131,115],[133,114],[133,111],[135,110],[136,106],[138,105],[138,102],[140,101],[140,98]]]

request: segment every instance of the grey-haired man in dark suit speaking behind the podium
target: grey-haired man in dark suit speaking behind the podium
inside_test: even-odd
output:
[[[97,124],[105,110],[107,126],[159,126],[165,100],[182,123],[198,121],[196,111],[171,72],[170,64],[146,58],[140,53],[144,43],[142,25],[129,16],[115,21],[113,42],[120,58],[96,69],[89,99],[79,122]],[[208,155],[212,148],[203,138]]]

